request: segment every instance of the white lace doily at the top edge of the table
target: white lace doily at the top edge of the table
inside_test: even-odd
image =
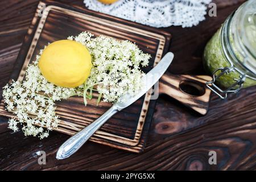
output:
[[[192,27],[205,19],[211,0],[119,0],[105,5],[84,0],[90,10],[146,24],[152,27]]]

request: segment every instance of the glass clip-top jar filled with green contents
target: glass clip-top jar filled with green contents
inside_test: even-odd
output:
[[[209,40],[204,67],[213,75],[208,88],[223,99],[256,85],[256,0],[243,3]]]

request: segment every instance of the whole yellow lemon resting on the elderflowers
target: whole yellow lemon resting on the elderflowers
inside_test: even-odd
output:
[[[86,81],[90,75],[92,60],[88,49],[81,43],[59,40],[43,50],[38,65],[49,82],[73,88]]]

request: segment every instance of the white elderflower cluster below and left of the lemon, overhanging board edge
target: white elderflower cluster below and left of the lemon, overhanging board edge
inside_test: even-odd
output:
[[[16,119],[9,119],[9,128],[18,131],[19,123],[26,136],[42,139],[48,137],[49,130],[58,126],[55,101],[73,96],[75,89],[61,88],[48,82],[40,73],[39,59],[40,55],[34,64],[28,66],[23,82],[13,81],[3,87],[3,98],[6,109],[16,115]]]

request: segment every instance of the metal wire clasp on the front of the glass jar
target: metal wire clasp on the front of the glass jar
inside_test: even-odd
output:
[[[217,72],[220,71],[219,74]],[[225,99],[228,97],[229,93],[237,93],[239,90],[241,90],[243,86],[243,82],[245,82],[246,75],[241,74],[241,72],[237,71],[240,74],[240,78],[234,79],[234,82],[231,86],[229,86],[228,89],[222,89],[219,86],[217,86],[216,80],[220,78],[222,75],[228,75],[230,72],[237,71],[234,67],[225,67],[225,68],[217,68],[213,72],[212,81],[208,81],[206,83],[207,87],[212,90],[214,93],[216,93],[220,98]]]

